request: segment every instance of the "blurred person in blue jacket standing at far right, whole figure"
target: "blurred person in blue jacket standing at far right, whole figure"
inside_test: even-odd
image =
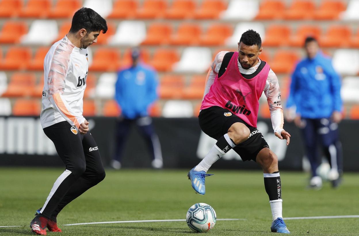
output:
[[[307,57],[297,64],[292,74],[286,120],[294,121],[302,130],[306,156],[312,169],[309,186],[322,187],[322,179],[317,173],[321,164],[320,144],[331,166],[327,179],[332,181],[333,187],[337,187],[342,173],[338,132],[338,123],[342,119],[340,76],[334,70],[331,59],[320,51],[315,38],[307,37],[304,48]]]

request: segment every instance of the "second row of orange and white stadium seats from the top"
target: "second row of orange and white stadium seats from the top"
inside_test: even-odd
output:
[[[49,45],[65,36],[71,22],[65,22],[57,31],[55,20],[34,20],[28,31],[27,23],[8,20],[0,31],[0,43],[23,43],[28,45]],[[231,24],[213,23],[206,30],[201,24],[182,23],[174,31],[171,23],[152,23],[124,20],[115,29],[108,22],[108,31],[98,38],[97,44],[109,45],[200,45],[200,46],[236,46],[238,38],[248,28],[253,28],[262,36],[264,46],[301,47],[306,36],[316,37],[322,47],[359,47],[359,30],[353,32],[348,25],[331,25],[324,32],[317,25],[302,25],[295,31],[287,24],[238,23],[233,29]],[[129,33],[132,32],[132,33]],[[39,34],[46,34],[39,37]]]

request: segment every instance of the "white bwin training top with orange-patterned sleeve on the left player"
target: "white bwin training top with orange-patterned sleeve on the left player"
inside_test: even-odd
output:
[[[77,129],[85,121],[83,97],[88,72],[88,50],[75,47],[65,36],[54,43],[44,60],[42,128],[67,121]]]

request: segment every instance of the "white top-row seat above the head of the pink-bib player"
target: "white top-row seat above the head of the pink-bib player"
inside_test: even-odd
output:
[[[224,20],[252,20],[259,10],[257,0],[231,0],[228,8],[222,11],[220,18]]]

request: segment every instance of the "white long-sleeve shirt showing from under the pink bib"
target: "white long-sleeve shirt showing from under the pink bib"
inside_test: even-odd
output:
[[[228,51],[221,51],[215,56],[211,68],[208,71],[204,96],[209,92],[210,87],[214,83],[214,80],[218,75],[219,69],[221,68],[223,57],[227,52]],[[239,63],[238,60],[237,63],[238,63],[238,69],[242,74],[253,74],[261,64],[261,60],[258,58],[258,63],[249,69],[243,69],[241,63]],[[267,77],[266,85],[264,88],[264,94],[267,97],[273,130],[274,132],[278,132],[280,134],[281,131],[283,130],[283,124],[284,124],[283,109],[280,100],[280,89],[279,89],[278,78],[275,75],[275,73],[272,71],[272,69],[270,69]]]

